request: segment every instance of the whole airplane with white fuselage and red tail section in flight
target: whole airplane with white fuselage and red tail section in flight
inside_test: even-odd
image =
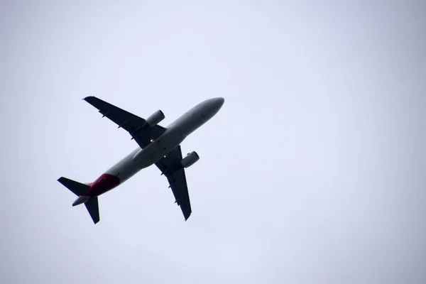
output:
[[[185,168],[196,163],[200,156],[192,151],[182,158],[180,143],[217,114],[224,104],[224,98],[216,97],[197,104],[167,128],[158,125],[165,119],[163,111],[160,110],[155,111],[148,119],[142,119],[97,97],[85,97],[84,101],[97,108],[102,117],[107,116],[119,128],[128,131],[131,139],[138,143],[138,148],[109,168],[94,182],[80,183],[64,177],[59,178],[58,182],[77,195],[72,206],[84,203],[94,224],[97,224],[100,220],[99,195],[121,185],[139,170],[155,164],[161,171],[161,175],[165,175],[168,179],[169,188],[171,187],[175,196],[175,203],[180,206],[186,221],[192,210]]]

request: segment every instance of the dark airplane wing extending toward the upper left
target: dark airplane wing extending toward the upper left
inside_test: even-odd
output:
[[[99,109],[99,112],[103,114],[102,117],[107,116],[111,121],[114,121],[119,128],[128,131],[141,148],[146,147],[151,143],[151,139],[160,137],[165,131],[164,127],[158,125],[153,127],[148,126],[145,119],[104,102],[97,97],[85,97],[84,101]]]

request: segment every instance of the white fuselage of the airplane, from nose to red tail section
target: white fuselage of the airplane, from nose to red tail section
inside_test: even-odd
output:
[[[173,121],[164,133],[141,149],[136,148],[105,173],[119,178],[120,184],[173,151],[195,129],[211,119],[224,104],[223,98],[207,99]]]

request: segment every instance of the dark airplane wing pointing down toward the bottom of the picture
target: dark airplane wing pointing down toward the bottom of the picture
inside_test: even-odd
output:
[[[175,195],[175,203],[178,203],[182,210],[185,221],[191,215],[190,195],[185,177],[185,169],[180,166],[182,160],[182,151],[180,146],[176,147],[173,151],[168,153],[166,158],[162,158],[155,165],[161,170],[172,188],[173,195]]]

